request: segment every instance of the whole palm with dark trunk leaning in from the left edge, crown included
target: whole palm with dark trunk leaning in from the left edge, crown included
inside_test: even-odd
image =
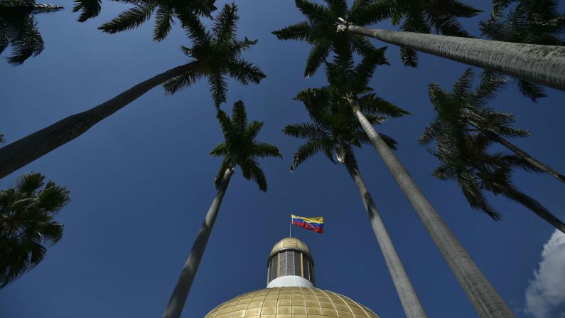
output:
[[[189,63],[171,68],[90,110],[71,115],[0,148],[0,178],[79,137],[90,127],[129,105],[157,85],[165,83],[166,91],[173,94],[206,77],[210,83],[212,100],[218,107],[220,103],[225,102],[227,76],[244,85],[249,82],[259,83],[265,77],[262,70],[241,57],[242,53],[257,41],[248,38],[238,40],[235,37],[238,19],[235,4],[226,4],[215,20],[212,32],[207,31],[200,22],[190,28],[189,35],[193,47],[182,47],[183,52],[190,58]]]

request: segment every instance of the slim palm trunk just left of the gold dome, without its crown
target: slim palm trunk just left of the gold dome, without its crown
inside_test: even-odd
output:
[[[193,247],[190,249],[190,254],[188,259],[181,270],[181,275],[178,276],[176,282],[175,290],[173,290],[173,295],[168,301],[165,312],[163,313],[163,318],[179,318],[183,312],[183,307],[188,297],[188,292],[190,292],[190,287],[193,285],[194,277],[198,271],[198,265],[200,265],[200,260],[204,255],[204,250],[206,249],[206,244],[208,244],[208,238],[210,238],[210,233],[212,233],[212,227],[216,221],[217,213],[220,211],[220,204],[222,203],[222,198],[224,198],[225,191],[227,189],[227,184],[230,183],[230,177],[233,174],[233,169],[227,169],[224,173],[222,183],[217,188],[217,194],[212,201],[212,205],[206,213],[206,218],[204,223],[200,227],[198,235],[194,240]]]

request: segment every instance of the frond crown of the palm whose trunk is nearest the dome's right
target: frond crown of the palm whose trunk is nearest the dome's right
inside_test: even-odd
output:
[[[333,163],[335,152],[338,161],[343,162],[348,171],[357,169],[353,147],[370,144],[370,139],[350,111],[348,102],[334,95],[329,88],[308,88],[299,92],[294,99],[303,102],[311,122],[284,127],[283,132],[287,136],[308,139],[294,154],[291,170],[294,171],[299,164],[318,152],[325,154]],[[365,115],[370,122],[380,124],[386,120],[382,116],[383,112],[391,113],[390,110],[381,110],[379,105],[374,105]],[[395,115],[402,116],[406,113],[398,109]],[[381,136],[389,147],[396,149],[394,139]]]

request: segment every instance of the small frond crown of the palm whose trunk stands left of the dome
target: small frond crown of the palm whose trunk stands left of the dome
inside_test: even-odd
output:
[[[223,110],[218,110],[217,120],[220,122],[225,140],[210,152],[213,157],[224,157],[215,179],[216,187],[220,186],[222,176],[227,169],[240,166],[245,179],[257,182],[261,191],[267,191],[267,179],[259,167],[257,158],[282,158],[282,155],[279,148],[274,145],[255,141],[255,137],[263,127],[263,122],[254,120],[249,123],[245,105],[241,100],[235,102],[231,118]]]

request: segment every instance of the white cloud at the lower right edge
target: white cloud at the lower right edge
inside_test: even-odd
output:
[[[539,269],[529,281],[526,313],[535,318],[565,317],[565,234],[559,230],[544,244]]]

